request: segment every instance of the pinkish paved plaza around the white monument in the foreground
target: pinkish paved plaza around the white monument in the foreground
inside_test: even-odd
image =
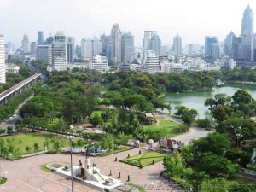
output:
[[[140,169],[136,166],[130,166],[124,163],[115,162],[125,159],[128,154],[136,155],[141,148],[134,148],[119,154],[112,154],[105,157],[90,157],[91,163],[95,163],[100,168],[102,174],[108,175],[111,169],[112,177],[117,178],[119,172],[120,180],[126,182],[128,175],[131,183],[144,186],[148,191],[182,191],[175,183],[170,183],[160,177],[160,172],[164,170],[162,161],[154,165],[146,166]],[[142,150],[142,149],[141,149]],[[79,165],[79,160],[84,165],[84,156],[73,155],[73,164]],[[21,160],[9,161],[0,159],[1,173],[4,176],[8,172],[7,183],[4,184],[4,191],[13,192],[68,192],[71,191],[71,180],[59,176],[55,172],[45,172],[41,170],[40,165],[50,162],[70,162],[70,154],[42,154],[32,156]],[[2,185],[3,186],[3,185]],[[2,187],[1,186],[1,187]],[[74,183],[74,191],[94,192],[82,183]]]

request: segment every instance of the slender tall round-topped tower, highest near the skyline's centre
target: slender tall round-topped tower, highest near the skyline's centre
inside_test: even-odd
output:
[[[121,30],[119,24],[114,24],[111,29],[111,39],[113,43],[113,61],[121,62]]]

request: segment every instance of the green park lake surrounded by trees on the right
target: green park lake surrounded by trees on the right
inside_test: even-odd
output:
[[[206,99],[214,98],[218,93],[225,93],[227,96],[233,96],[236,90],[239,89],[247,90],[247,92],[256,99],[256,84],[225,84],[223,87],[212,88],[212,92],[169,93],[161,99],[166,104],[171,104],[172,113],[175,112],[176,106],[186,106],[187,108],[194,108],[197,110],[199,114],[198,119],[205,119],[206,117],[212,119],[210,110],[205,107]],[[164,112],[168,113],[166,109]]]

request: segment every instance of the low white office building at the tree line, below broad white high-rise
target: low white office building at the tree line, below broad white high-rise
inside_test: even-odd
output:
[[[106,56],[96,55],[90,59],[89,69],[97,71],[107,72],[108,71],[108,60]]]

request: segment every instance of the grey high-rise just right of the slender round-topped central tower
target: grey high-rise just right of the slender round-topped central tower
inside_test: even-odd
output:
[[[131,32],[122,32],[121,37],[121,61],[134,61],[134,37]]]

